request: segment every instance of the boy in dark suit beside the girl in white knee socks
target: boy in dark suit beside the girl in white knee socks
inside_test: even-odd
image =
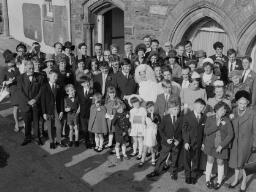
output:
[[[203,99],[197,99],[193,104],[193,111],[184,115],[182,137],[185,148],[184,167],[187,184],[196,184],[197,182],[206,121],[206,116],[203,114],[205,106],[206,103]]]

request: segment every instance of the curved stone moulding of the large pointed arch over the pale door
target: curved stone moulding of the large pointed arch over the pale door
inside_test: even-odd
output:
[[[180,4],[184,5],[185,3]],[[231,40],[232,47],[237,49],[237,40],[234,33],[235,25],[228,15],[215,4],[204,1],[188,5],[186,8],[182,6],[177,7],[172,12],[169,14],[170,16],[168,17],[164,29],[162,30],[160,39],[161,42],[170,40],[174,45],[176,45],[182,40],[184,33],[190,28],[191,25],[204,17],[209,17],[223,26]],[[175,18],[174,15],[180,16]]]

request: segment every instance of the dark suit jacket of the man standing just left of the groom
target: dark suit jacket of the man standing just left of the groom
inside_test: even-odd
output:
[[[100,73],[98,75],[94,75],[93,76],[94,92],[102,93],[102,85],[103,85],[102,73]],[[113,74],[112,73],[108,73],[108,75],[107,75],[106,82],[105,82],[105,93],[104,93],[104,95],[106,94],[107,88],[109,86],[113,86]]]

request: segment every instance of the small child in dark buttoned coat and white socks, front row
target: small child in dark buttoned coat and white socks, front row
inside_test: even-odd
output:
[[[120,159],[120,146],[124,159],[129,159],[126,154],[126,143],[129,141],[128,130],[130,128],[129,114],[125,111],[125,104],[122,101],[117,101],[116,114],[112,120],[115,126],[115,139],[116,139],[116,158]]]

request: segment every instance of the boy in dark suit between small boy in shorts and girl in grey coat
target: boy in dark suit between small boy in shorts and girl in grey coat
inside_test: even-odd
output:
[[[85,137],[85,146],[87,148],[93,147],[94,137],[91,132],[88,131],[88,122],[90,117],[90,107],[92,105],[93,89],[90,86],[91,79],[86,75],[78,77],[77,96],[80,105],[80,128],[82,135]]]

